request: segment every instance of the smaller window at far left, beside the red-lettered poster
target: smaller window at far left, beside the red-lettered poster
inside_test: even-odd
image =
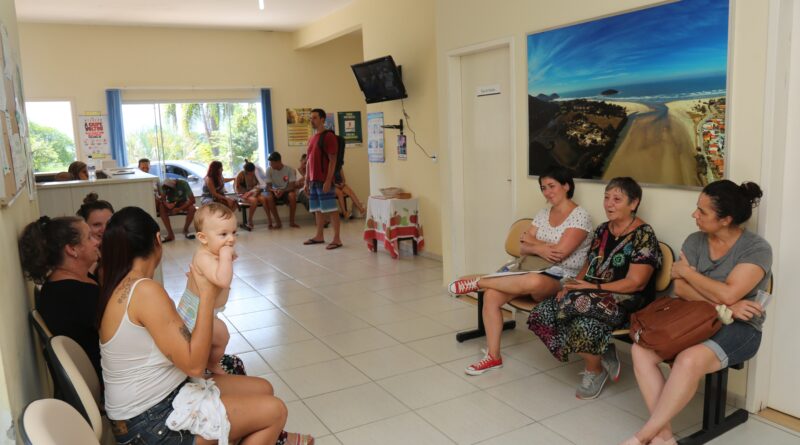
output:
[[[66,171],[75,156],[75,127],[68,101],[26,102],[33,169]]]

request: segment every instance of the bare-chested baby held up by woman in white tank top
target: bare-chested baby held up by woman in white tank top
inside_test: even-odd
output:
[[[192,268],[186,290],[178,303],[180,314],[189,331],[194,330],[197,320],[197,308],[200,306],[198,295],[211,289],[217,295],[214,301],[214,323],[211,336],[211,353],[208,358],[208,370],[214,374],[224,374],[220,359],[225,353],[230,334],[216,315],[225,310],[228,302],[231,280],[233,279],[233,260],[236,252],[236,215],[228,206],[212,202],[197,211],[194,217],[194,228],[200,248],[192,257]]]

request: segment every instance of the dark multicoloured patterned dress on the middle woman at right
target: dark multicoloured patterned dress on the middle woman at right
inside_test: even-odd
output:
[[[631,264],[653,267],[645,288],[633,294],[573,290],[563,299],[548,298],[539,303],[528,318],[528,328],[562,362],[570,353],[601,355],[611,332],[628,321],[628,316],[644,307],[655,296],[655,270],[661,267],[661,250],[653,228],[642,224],[617,239],[608,222],[597,227],[586,259],[589,267],[585,281],[610,283],[628,274]]]

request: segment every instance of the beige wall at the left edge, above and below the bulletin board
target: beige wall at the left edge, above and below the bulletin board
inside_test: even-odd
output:
[[[0,2],[0,23],[8,30],[10,47],[19,63],[19,43],[14,2]],[[24,68],[23,68],[24,72]],[[41,369],[34,355],[28,311],[31,299],[22,277],[17,252],[17,236],[38,216],[36,201],[23,190],[8,207],[0,208],[0,283],[3,284],[0,310],[0,442],[22,408],[41,393]],[[5,443],[5,442],[3,442]]]

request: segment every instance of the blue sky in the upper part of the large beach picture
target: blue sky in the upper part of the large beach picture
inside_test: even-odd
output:
[[[728,0],[683,0],[528,36],[528,94],[724,76]]]

